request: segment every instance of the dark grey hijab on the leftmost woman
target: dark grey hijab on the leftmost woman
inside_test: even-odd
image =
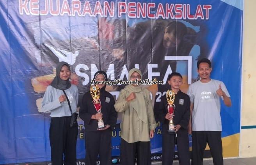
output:
[[[69,82],[69,80],[62,80],[60,78],[60,70],[62,68],[62,66],[68,66],[68,69],[70,70],[70,66],[68,63],[62,61],[59,62],[56,66],[56,76],[55,78],[52,80],[52,82],[50,83],[50,85],[56,89],[60,89],[60,90],[65,90],[65,89],[69,89],[71,87],[71,83]]]

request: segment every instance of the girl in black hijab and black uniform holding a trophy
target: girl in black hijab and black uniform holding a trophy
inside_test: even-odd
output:
[[[104,71],[98,71],[94,75],[96,81],[107,80]],[[79,116],[84,120],[85,126],[85,164],[96,165],[100,156],[101,165],[112,165],[111,156],[111,130],[114,129],[117,120],[117,112],[114,108],[114,97],[105,90],[106,85],[97,84],[100,88],[101,113],[97,113],[92,102],[90,91],[83,96]],[[105,127],[98,129],[98,120],[102,118]]]

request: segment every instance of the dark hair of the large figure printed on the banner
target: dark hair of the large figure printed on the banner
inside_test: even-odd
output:
[[[183,38],[187,34],[187,26],[179,21],[172,21],[166,26],[167,33],[173,33],[176,38]]]

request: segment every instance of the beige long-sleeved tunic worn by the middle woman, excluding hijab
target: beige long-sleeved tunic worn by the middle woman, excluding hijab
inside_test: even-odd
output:
[[[156,121],[151,104],[150,93],[147,89],[143,89],[142,94],[144,97],[144,100],[142,101],[145,102],[148,117],[146,123],[139,119],[136,110],[133,109],[133,107],[129,105],[130,103],[125,100],[126,97],[130,95],[130,92],[127,90],[122,89],[120,91],[116,104],[114,105],[117,112],[123,112],[121,137],[128,143],[150,141],[149,131],[155,130],[156,128]]]

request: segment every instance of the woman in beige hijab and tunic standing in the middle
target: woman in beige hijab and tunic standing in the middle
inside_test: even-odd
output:
[[[129,71],[129,80],[142,78],[141,71]],[[150,139],[156,128],[150,92],[142,85],[130,84],[120,91],[115,108],[123,112],[120,165],[151,165]]]

